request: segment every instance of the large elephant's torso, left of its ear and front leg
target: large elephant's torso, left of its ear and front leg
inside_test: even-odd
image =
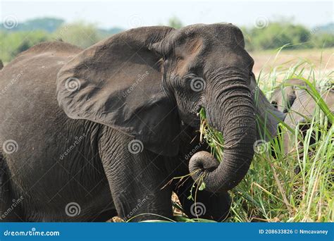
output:
[[[85,190],[99,196],[97,206],[110,198],[99,157],[89,156],[89,130],[97,124],[68,118],[56,100],[58,70],[80,50],[63,42],[39,44],[0,70],[0,149],[8,148],[2,151],[11,183],[25,193],[27,215],[37,215],[37,208],[63,211],[73,199],[83,208],[91,197]],[[78,154],[81,147],[85,152]]]

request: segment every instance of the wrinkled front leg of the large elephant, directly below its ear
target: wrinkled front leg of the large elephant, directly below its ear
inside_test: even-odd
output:
[[[168,181],[163,160],[145,149],[137,154],[135,149],[129,150],[131,141],[108,128],[99,142],[118,216],[125,221],[172,218],[171,187],[161,190]]]

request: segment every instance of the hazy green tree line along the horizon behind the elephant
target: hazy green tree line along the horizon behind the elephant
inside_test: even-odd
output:
[[[171,27],[183,27],[178,18],[171,18]],[[266,25],[240,27],[245,36],[248,51],[278,49],[312,49],[334,47],[334,24],[316,27],[312,30],[288,20],[268,22]],[[0,59],[11,61],[20,52],[29,49],[39,42],[63,41],[87,48],[105,37],[109,37],[122,28],[113,27],[109,30],[99,29],[92,23],[65,23],[56,18],[41,18],[25,23],[0,27],[1,53]]]

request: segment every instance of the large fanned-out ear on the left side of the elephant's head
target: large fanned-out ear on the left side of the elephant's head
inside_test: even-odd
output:
[[[85,49],[58,73],[58,104],[70,118],[109,125],[151,152],[178,154],[178,112],[161,86],[161,56],[150,50],[171,31],[139,27]]]

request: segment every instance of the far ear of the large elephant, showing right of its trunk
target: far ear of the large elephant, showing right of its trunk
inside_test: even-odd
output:
[[[256,114],[257,139],[271,140],[276,136],[278,123],[284,120],[285,115],[266,99],[266,96],[256,84],[253,73],[250,89]]]

